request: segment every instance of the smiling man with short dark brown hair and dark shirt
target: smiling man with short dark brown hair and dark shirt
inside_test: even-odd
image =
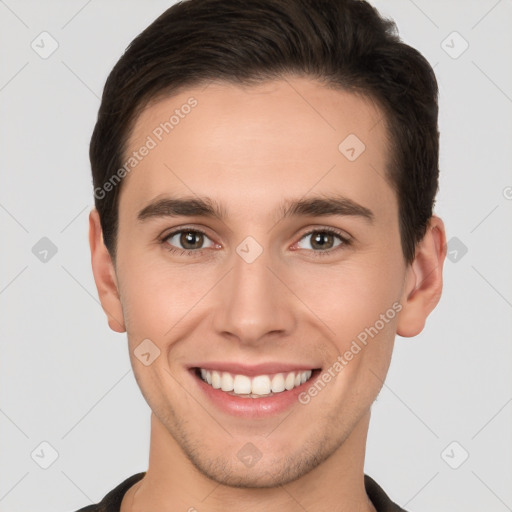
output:
[[[437,84],[357,0],[187,0],[129,46],[92,267],[152,409],[85,511],[403,510],[363,472],[396,334],[439,301]]]

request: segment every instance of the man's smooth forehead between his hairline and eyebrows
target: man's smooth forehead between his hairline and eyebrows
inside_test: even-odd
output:
[[[150,104],[125,160],[144,146],[121,197],[143,207],[165,192],[239,206],[336,190],[361,203],[394,195],[383,115],[368,98],[289,78],[211,83]]]

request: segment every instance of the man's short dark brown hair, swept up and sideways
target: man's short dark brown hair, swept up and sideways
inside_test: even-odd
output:
[[[211,80],[251,85],[290,74],[381,107],[391,141],[386,177],[412,262],[438,190],[437,81],[394,22],[361,0],[185,0],[131,42],[108,76],[90,144],[95,206],[114,261],[122,184],[96,191],[122,166],[144,106]]]

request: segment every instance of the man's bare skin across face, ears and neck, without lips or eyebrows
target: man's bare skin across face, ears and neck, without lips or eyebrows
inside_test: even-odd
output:
[[[370,407],[395,335],[420,333],[441,296],[443,222],[431,218],[406,265],[397,199],[383,178],[389,152],[379,108],[307,78],[216,83],[159,100],[137,119],[130,151],[191,96],[198,105],[124,178],[115,265],[98,213],[90,213],[101,304],[110,327],[127,332],[152,409],[149,467],[121,510],[374,511],[363,481]],[[351,133],[366,146],[353,162],[338,150]],[[369,208],[374,221],[276,219],[283,199],[334,192]],[[226,217],[137,220],[165,194],[209,196]],[[179,237],[159,240],[177,227],[205,230],[206,248],[170,253],[170,243],[190,247]],[[353,243],[340,246],[334,237],[331,253],[318,256],[326,249],[315,249],[305,233],[327,227]],[[247,236],[263,248],[250,264],[236,252]],[[200,355],[327,369],[396,301],[401,311],[343,371],[309,404],[283,414],[248,420],[221,412],[185,368]],[[147,338],[161,353],[144,366],[134,350]],[[237,458],[248,442],[262,454],[250,468]]]

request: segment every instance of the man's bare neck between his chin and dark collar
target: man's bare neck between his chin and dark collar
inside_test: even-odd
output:
[[[330,457],[299,479],[272,488],[241,488],[202,474],[152,414],[148,470],[125,494],[121,512],[375,512],[364,487],[369,420],[368,412]]]

